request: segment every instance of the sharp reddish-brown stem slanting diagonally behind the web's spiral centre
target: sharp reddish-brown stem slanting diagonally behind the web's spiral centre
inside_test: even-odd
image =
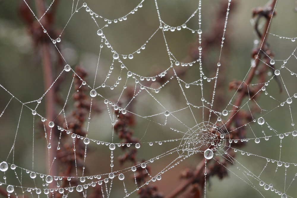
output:
[[[274,9],[275,5],[276,5],[276,2],[277,0],[274,0],[270,7],[271,9]],[[272,16],[271,16],[272,18]],[[261,38],[261,42],[260,42],[260,46],[259,46],[259,49],[260,51],[263,49],[264,45],[265,45],[265,42],[266,42],[266,39],[267,39],[267,33],[268,33],[268,29],[269,29],[269,24],[270,24],[270,21],[271,21],[271,18],[267,18],[266,19],[266,24],[265,24],[265,28],[263,29],[263,34],[262,34],[262,38]],[[246,80],[244,81],[247,85],[252,81],[252,78],[254,77],[255,75],[255,70],[257,69],[257,66],[259,65],[260,63],[260,57],[259,57],[259,54],[257,55],[257,57],[255,58],[255,67],[252,67],[250,70],[249,70],[249,73],[247,75],[247,78]],[[228,119],[228,122],[225,124],[225,127],[226,129],[228,130],[232,124],[232,121],[233,119],[235,118],[235,114],[238,112],[237,111],[237,107],[235,106],[240,106],[242,100],[244,99],[244,96],[245,96],[245,93],[244,92],[240,92],[238,94],[238,96],[236,97],[236,100],[235,100],[235,103],[234,103],[234,106],[232,108],[232,111],[230,112],[230,115],[229,115],[229,119]],[[173,190],[170,194],[168,194],[166,196],[166,198],[174,198],[176,196],[178,196],[178,194],[182,193],[185,189],[187,189],[187,187],[189,185],[191,185],[195,179],[197,178],[197,176],[200,174],[201,171],[203,171],[205,167],[205,161],[204,160],[201,160],[200,163],[198,164],[198,166],[196,167],[196,170],[193,174],[193,176],[189,179],[187,179],[184,183],[182,183],[180,186],[178,186],[175,190]]]

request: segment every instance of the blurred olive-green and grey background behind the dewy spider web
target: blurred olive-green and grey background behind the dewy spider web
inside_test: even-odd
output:
[[[40,6],[40,4],[45,5],[44,7],[47,8],[51,3],[50,1],[40,1],[37,3],[33,0],[26,2],[34,13],[38,13],[38,6]],[[112,20],[118,19],[129,13],[140,3],[140,1],[135,0],[85,2],[92,11],[103,17],[96,18],[96,22],[100,28],[106,24],[104,18]],[[82,4],[83,2],[79,1],[78,7]],[[159,19],[154,1],[144,1],[142,4],[143,7],[138,8],[135,14],[128,15],[127,20],[111,23],[108,27],[102,29],[113,49],[121,55],[128,55],[138,50],[159,27]],[[252,49],[257,47],[259,42],[254,28],[255,21],[252,19],[252,9],[263,7],[266,4],[269,4],[269,2],[262,0],[232,1],[231,3],[220,61],[222,66],[220,67],[221,70],[218,76],[219,84],[216,89],[217,100],[214,102],[217,111],[221,112],[224,110],[235,93],[235,90],[228,90],[229,83],[234,79],[244,80],[250,69],[251,61],[253,61],[253,59],[251,59],[251,52]],[[225,22],[226,5],[226,1],[202,1],[202,46],[203,50],[205,49],[205,53],[202,53],[203,72],[210,78],[215,76],[216,64],[219,61],[221,34],[223,33],[223,26],[220,22],[221,20]],[[158,1],[158,7],[162,20],[169,26],[176,27],[181,26],[198,8],[198,1]],[[293,94],[297,92],[297,58],[295,55],[292,55],[296,49],[296,42],[291,41],[291,38],[297,37],[297,26],[295,24],[297,13],[295,12],[295,7],[296,1],[279,1],[276,6],[276,15],[272,18],[272,22],[270,23],[269,32],[271,34],[267,34],[268,45],[274,54],[274,67],[281,68],[283,61],[290,57],[285,65],[287,69],[282,68],[281,71],[284,72],[281,73],[282,78],[279,78],[283,89],[282,93],[279,91],[277,80],[272,77],[274,69],[268,69],[266,72],[266,81],[270,79],[269,86],[266,87],[268,95],[263,93],[257,98],[257,105],[260,106],[263,111],[255,111],[255,117],[260,117],[260,115],[266,116],[265,120],[271,123],[271,127],[274,130],[270,130],[270,127],[267,128],[267,126],[265,126],[265,132],[267,135],[273,135],[273,137],[267,142],[264,142],[265,140],[262,138],[260,144],[257,145],[255,145],[252,139],[247,142],[244,147],[241,147],[241,150],[254,153],[256,156],[248,157],[247,155],[241,155],[239,152],[236,153],[235,159],[237,161],[234,162],[235,165],[228,167],[228,177],[219,180],[214,176],[208,181],[206,197],[280,197],[276,193],[272,194],[270,190],[264,191],[263,187],[259,185],[259,181],[255,179],[250,181],[246,176],[252,173],[258,176],[267,162],[265,158],[278,160],[280,155],[280,139],[276,134],[292,132],[294,130],[294,126],[292,126],[291,123],[294,122],[297,116],[297,111],[295,110],[296,105],[293,103],[290,108],[287,104],[285,104],[286,106],[283,108],[276,107],[280,105],[280,102],[285,102],[288,97],[292,97]],[[104,98],[111,101],[117,101],[124,85],[127,85],[128,91],[125,91],[123,94],[122,98],[124,99],[121,101],[122,104],[127,104],[127,101],[131,99],[130,92],[134,91],[135,80],[131,78],[127,80],[126,73],[128,71],[132,71],[140,76],[152,77],[170,67],[168,52],[161,31],[158,31],[156,35],[146,43],[145,49],[142,50],[140,54],[135,53],[134,58],[131,60],[123,60],[127,69],[121,69],[119,62],[115,61],[113,63],[113,53],[110,52],[110,49],[107,49],[104,42],[101,42],[101,38],[97,35],[98,26],[94,23],[91,15],[85,11],[85,7],[82,7],[78,12],[72,15],[71,1],[56,0],[53,3],[52,9],[55,10],[54,13],[50,12],[51,9],[48,11],[48,15],[52,14],[50,18],[52,21],[50,21],[50,24],[45,24],[44,26],[52,39],[58,38],[61,34],[61,42],[57,43],[57,47],[67,64],[69,64],[72,69],[75,69],[76,66],[80,66],[86,72],[87,75],[83,78],[89,85],[89,88],[85,90],[88,98],[86,101],[90,101],[88,93],[91,90],[90,88],[93,88],[100,51],[99,45],[101,44],[104,45],[104,48],[102,48],[102,52],[100,53],[94,87],[97,88],[104,83],[110,66],[113,66],[115,69],[110,78],[106,81],[108,86],[112,86],[118,76],[122,77],[122,81],[119,85],[121,88],[117,87],[113,91],[99,88],[99,91],[97,91],[97,93],[100,93]],[[220,12],[223,14],[220,15]],[[47,15],[45,15],[44,18],[46,18],[46,16]],[[222,18],[222,16],[224,17]],[[52,74],[51,83],[59,76],[66,63],[61,59],[60,54],[57,52],[56,47],[52,44],[50,39],[42,32],[43,29],[40,28],[36,19],[30,19],[30,17],[32,17],[32,14],[23,1],[0,1],[0,84],[3,86],[0,90],[0,111],[2,112],[9,103],[0,117],[0,161],[7,161],[11,164],[14,158],[14,164],[24,169],[32,170],[32,148],[34,141],[34,171],[48,174],[48,170],[46,166],[44,166],[44,164],[47,163],[47,157],[45,156],[48,156],[48,143],[45,140],[45,131],[40,121],[41,119],[35,117],[37,120],[33,120],[31,110],[22,106],[18,100],[23,103],[29,102],[26,105],[35,109],[37,102],[31,101],[40,99],[46,89],[49,88],[49,86],[45,85],[47,73],[45,72],[43,59],[44,51],[42,50],[44,43],[49,43],[48,54],[50,55],[50,70]],[[33,22],[31,20],[33,20]],[[44,21],[40,21],[44,24]],[[265,19],[259,21],[260,30],[262,29],[261,27],[264,26],[265,21]],[[199,29],[198,14],[187,22],[187,27],[194,30]],[[181,29],[181,31],[165,31],[164,33],[168,47],[178,61],[190,62],[198,58],[197,31],[192,33],[188,29]],[[121,57],[122,56],[120,56],[120,58]],[[186,83],[192,83],[200,78],[197,63],[192,67],[188,66],[186,69],[178,71],[180,72],[178,74],[181,79]],[[293,75],[291,75],[291,72],[293,72]],[[64,72],[56,83],[59,84],[58,88],[51,89],[51,91],[55,92],[53,119],[56,119],[57,122],[63,121],[64,115],[63,113],[59,115],[59,113],[63,108],[63,101],[65,102],[69,89],[70,97],[65,107],[66,117],[71,117],[75,107],[77,107],[75,106],[77,101],[74,97],[76,90],[74,86],[72,88],[70,87],[72,79],[73,72]],[[125,84],[126,80],[127,83]],[[156,89],[165,82],[165,80],[157,80],[151,83],[150,86],[152,89]],[[254,80],[252,83],[257,83],[257,81]],[[184,86],[185,83],[181,83],[181,85]],[[4,90],[4,88],[7,91]],[[207,101],[211,101],[214,81],[206,83],[203,85],[203,88],[204,98]],[[164,104],[166,110],[172,112],[186,107],[185,98],[176,79],[171,80],[170,83],[161,90],[162,92],[159,95],[155,95],[154,90],[151,90],[150,93],[154,94],[155,98],[161,104]],[[201,105],[200,98],[202,96],[200,86],[191,85],[189,89],[184,91],[187,95],[187,99],[192,101],[192,104]],[[9,93],[18,100],[12,99],[11,102],[9,102],[12,97]],[[273,96],[274,99],[271,99],[270,96]],[[82,129],[87,131],[90,139],[103,142],[120,142],[121,139],[117,137],[117,134],[114,134],[114,139],[112,140],[113,128],[109,113],[103,104],[103,97],[96,97],[96,102],[94,102],[94,114],[91,115],[89,124],[89,114],[85,115],[85,120],[82,122]],[[247,100],[248,99],[245,99],[244,101],[247,102]],[[295,101],[293,100],[293,102]],[[46,118],[47,107],[45,103],[45,100],[42,100],[38,106],[37,113]],[[132,109],[130,111],[142,116],[134,116],[134,124],[129,126],[129,129],[133,131],[133,137],[137,138],[139,142],[143,142],[140,149],[138,149],[136,161],[147,161],[178,146],[178,142],[163,142],[162,146],[156,143],[156,141],[182,138],[182,134],[174,133],[170,127],[181,131],[186,130],[186,128],[170,116],[167,118],[166,126],[160,126],[156,123],[164,124],[164,116],[160,115],[149,119],[143,118],[144,116],[164,112],[164,109],[161,108],[149,94],[139,94],[131,106]],[[230,106],[228,108],[227,110],[231,109]],[[244,109],[248,110],[247,107]],[[202,110],[195,109],[193,111],[198,123],[202,122]],[[195,126],[194,120],[191,119],[193,116],[189,110],[180,111],[174,115],[182,117],[182,122],[186,125]],[[216,120],[216,118],[214,119]],[[45,124],[47,123],[45,122]],[[261,126],[255,123],[252,127],[247,127],[246,138],[255,138],[253,133],[256,137],[264,137],[265,135],[263,136],[261,131]],[[291,134],[289,135],[292,137]],[[59,137],[59,134],[57,137]],[[71,142],[72,140],[65,139],[64,141]],[[154,145],[150,147],[147,144],[148,142],[153,142]],[[15,149],[13,149],[13,153],[10,153],[12,145],[15,145]],[[297,163],[297,155],[294,151],[296,143],[293,139],[283,139],[282,145],[282,161]],[[108,147],[91,142],[88,148],[89,150],[85,161],[86,175],[108,173],[110,171],[110,150]],[[125,151],[121,149],[114,151],[114,170],[124,170],[133,165],[131,162],[120,165],[120,162],[116,158],[124,152]],[[14,157],[12,157],[12,155]],[[7,156],[9,156],[8,159]],[[152,174],[157,174],[159,171],[163,170],[163,168],[175,158],[175,155],[168,155],[157,163],[149,164]],[[168,170],[157,183],[158,192],[163,195],[169,194],[183,182],[180,178],[181,173],[187,168],[195,170],[195,167],[201,160],[204,160],[203,156],[201,154],[195,154],[185,159],[178,166]],[[57,173],[62,174],[66,166],[64,167],[63,164],[59,166]],[[247,170],[245,170],[245,168],[247,168]],[[278,170],[278,172],[275,172],[276,168],[276,166],[267,166],[261,178],[269,183],[273,183],[275,189],[281,189],[283,191],[284,185],[290,185],[290,183],[285,181],[285,178],[287,177],[287,180],[292,181],[296,173],[296,168],[291,164],[291,169],[287,170],[286,177],[284,167]],[[79,175],[82,173],[81,170],[82,169],[79,171]],[[24,172],[24,174],[26,173]],[[7,172],[5,175],[7,177],[7,183],[11,182],[15,183],[16,186],[19,185],[14,172]],[[127,172],[124,180],[128,192],[137,188],[133,181],[134,176],[132,175],[131,179],[130,175],[131,171]],[[76,175],[71,173],[71,176],[75,177]],[[5,183],[2,178],[0,182]],[[23,186],[26,188],[35,186],[34,182],[29,179],[28,174],[23,176]],[[297,193],[293,186],[296,186],[294,181],[288,190],[288,195],[291,197],[294,197]],[[6,186],[3,185],[2,187],[6,189]],[[39,186],[39,188],[42,188],[42,186]],[[263,196],[254,188],[260,189],[259,191]],[[123,189],[123,185],[118,180],[115,181],[112,189],[112,197],[123,197],[125,194]],[[99,192],[101,192],[101,190]],[[0,197],[1,196],[3,195],[0,195]],[[80,197],[78,194],[73,196]],[[131,196],[138,197],[139,195],[134,193]],[[182,196],[183,195],[181,195],[181,197]]]

